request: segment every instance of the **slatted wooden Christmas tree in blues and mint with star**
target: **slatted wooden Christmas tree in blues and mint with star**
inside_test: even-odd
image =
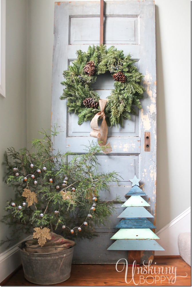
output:
[[[140,179],[134,176],[130,179],[132,188],[125,196],[130,196],[121,207],[126,209],[118,216],[123,218],[114,228],[119,229],[111,239],[116,241],[107,250],[129,250],[128,263],[131,265],[135,260],[140,264],[140,253],[142,250],[164,249],[155,241],[160,239],[151,229],[156,228],[147,218],[153,218],[145,207],[150,206],[141,196],[146,193],[139,187]]]

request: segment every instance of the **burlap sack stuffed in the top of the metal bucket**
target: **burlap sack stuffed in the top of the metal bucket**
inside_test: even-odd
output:
[[[28,253],[53,253],[69,249],[75,245],[74,241],[65,239],[63,236],[54,232],[50,232],[50,235],[51,239],[47,240],[43,247],[40,247],[39,243],[32,239],[26,241],[26,247],[24,247],[23,250],[27,251]]]

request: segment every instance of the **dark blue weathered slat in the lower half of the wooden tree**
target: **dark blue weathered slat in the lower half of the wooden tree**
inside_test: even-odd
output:
[[[114,228],[156,228],[149,219],[143,218],[124,218]]]

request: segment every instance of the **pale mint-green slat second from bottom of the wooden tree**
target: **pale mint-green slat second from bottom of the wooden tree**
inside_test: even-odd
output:
[[[149,228],[124,228],[118,230],[110,239],[160,239]]]

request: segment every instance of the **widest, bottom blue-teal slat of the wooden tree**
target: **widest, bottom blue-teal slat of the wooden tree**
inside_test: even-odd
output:
[[[154,250],[164,251],[154,239],[118,239],[107,250]]]

